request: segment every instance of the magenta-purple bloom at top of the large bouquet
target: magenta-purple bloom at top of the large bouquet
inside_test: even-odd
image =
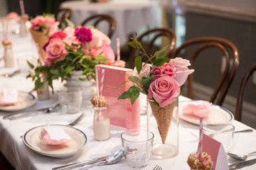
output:
[[[75,36],[81,43],[92,41],[92,32],[90,29],[82,26],[81,28],[75,28]]]

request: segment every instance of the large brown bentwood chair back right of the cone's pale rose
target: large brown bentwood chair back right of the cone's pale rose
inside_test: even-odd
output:
[[[189,49],[188,49],[189,48]],[[213,49],[213,48],[217,48]],[[239,53],[238,48],[233,45],[229,40],[225,40],[223,38],[215,38],[215,37],[202,37],[202,38],[193,38],[191,40],[186,40],[180,47],[171,52],[170,57],[179,57],[181,55],[182,50],[186,49],[185,57],[191,62],[190,69],[195,69],[195,72],[188,76],[188,98],[194,98],[193,96],[193,77],[194,74],[198,74],[198,70],[201,70],[202,77],[197,77],[199,81],[203,81],[204,79],[208,79],[210,85],[215,84],[215,82],[211,82],[216,77],[220,77],[215,85],[213,93],[210,96],[209,101],[211,103],[215,103],[219,106],[222,106],[224,98],[228,93],[228,89],[233,81],[235,76],[236,69],[238,67],[239,62]],[[208,53],[206,53],[206,49],[208,49]],[[210,52],[210,53],[209,53]],[[192,55],[189,55],[192,54]],[[190,57],[189,57],[190,56]],[[225,67],[223,72],[220,72],[221,68],[221,58],[225,57]],[[200,58],[204,62],[200,64],[196,64],[196,59]],[[206,59],[206,57],[208,57]],[[218,61],[218,57],[220,57],[219,67],[213,65],[213,63]],[[198,59],[199,60],[199,59]],[[199,63],[199,61],[197,61]],[[196,69],[197,68],[197,69]],[[203,69],[202,69],[203,68]],[[211,69],[211,73],[208,71]],[[214,70],[213,70],[214,69]],[[207,70],[207,71],[206,71]],[[206,73],[210,73],[207,75]],[[203,77],[204,76],[204,77]],[[204,78],[204,79],[203,79]],[[203,83],[206,83],[203,82]]]

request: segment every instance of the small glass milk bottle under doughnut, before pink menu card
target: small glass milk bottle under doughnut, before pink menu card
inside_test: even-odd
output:
[[[93,109],[93,137],[99,141],[110,139],[110,118],[107,107],[93,107]]]

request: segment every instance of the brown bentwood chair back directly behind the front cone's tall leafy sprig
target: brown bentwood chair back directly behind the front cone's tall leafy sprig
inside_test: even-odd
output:
[[[174,30],[171,30],[170,28],[153,28],[146,30],[142,35],[139,35],[137,40],[142,43],[142,46],[148,56],[153,55],[156,50],[160,50],[161,47],[159,46],[161,46],[161,42],[166,40],[166,44],[169,45],[166,52],[166,57],[168,57],[171,50],[174,50],[176,34],[174,33]],[[137,53],[138,50],[132,48],[132,52],[129,55],[129,68],[134,68],[134,60],[138,56]],[[147,57],[142,57],[143,62],[147,62],[147,60]]]

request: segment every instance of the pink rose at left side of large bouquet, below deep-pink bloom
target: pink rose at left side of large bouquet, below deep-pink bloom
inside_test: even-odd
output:
[[[65,45],[62,40],[53,38],[46,47],[46,66],[52,62],[60,62],[68,55]]]

